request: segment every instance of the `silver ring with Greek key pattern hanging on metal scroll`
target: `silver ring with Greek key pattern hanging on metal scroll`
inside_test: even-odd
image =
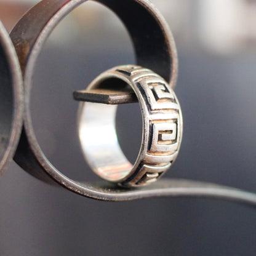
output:
[[[96,174],[122,186],[156,181],[177,158],[182,141],[182,111],[174,91],[158,74],[141,66],[117,66],[102,73],[87,91],[128,84],[143,119],[142,144],[135,164],[122,153],[115,130],[117,105],[80,103],[78,129],[82,151]]]

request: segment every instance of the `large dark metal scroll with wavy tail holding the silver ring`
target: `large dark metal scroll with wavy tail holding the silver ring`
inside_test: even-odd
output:
[[[75,182],[47,160],[34,135],[30,116],[30,89],[36,59],[50,32],[66,14],[86,0],[44,0],[29,10],[10,36],[14,42],[25,84],[25,117],[15,161],[34,177],[75,193],[105,201],[127,201],[156,196],[198,196],[239,201],[256,206],[256,196],[233,188],[188,180],[162,179],[139,189],[123,189],[108,182]],[[134,42],[137,64],[161,75],[174,87],[177,54],[174,40],[159,12],[146,0],[101,0],[126,25]],[[132,15],[130,15],[132,13]],[[138,18],[134,18],[138,17]]]

